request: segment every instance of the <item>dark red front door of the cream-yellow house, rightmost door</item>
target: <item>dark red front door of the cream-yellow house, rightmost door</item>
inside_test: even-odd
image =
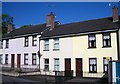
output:
[[[82,77],[82,58],[76,58],[76,76]]]

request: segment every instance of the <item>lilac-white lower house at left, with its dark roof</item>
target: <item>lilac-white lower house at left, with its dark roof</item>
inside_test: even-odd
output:
[[[31,27],[32,30],[28,28],[29,31],[24,28],[16,29],[3,36],[0,49],[0,63],[3,68],[38,70],[39,32],[44,30],[40,28],[38,31],[41,26]]]

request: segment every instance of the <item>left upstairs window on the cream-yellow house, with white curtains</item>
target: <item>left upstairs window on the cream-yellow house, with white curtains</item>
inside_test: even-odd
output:
[[[96,48],[95,34],[88,35],[88,46],[89,46],[89,48]]]

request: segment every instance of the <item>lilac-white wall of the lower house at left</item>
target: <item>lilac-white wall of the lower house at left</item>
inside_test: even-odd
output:
[[[11,55],[14,54],[14,64],[17,68],[17,54],[21,54],[21,68],[37,68],[39,64],[39,59],[37,52],[39,50],[39,35],[37,35],[37,46],[32,46],[32,36],[29,36],[29,45],[25,47],[25,38],[13,38],[9,39],[9,47],[5,48],[6,40],[3,40],[3,49],[0,49],[0,54],[2,54],[2,64],[3,67],[11,67]],[[24,54],[28,54],[28,65],[24,65]],[[36,53],[36,65],[32,65],[32,53]],[[5,54],[8,54],[8,64],[5,64]]]

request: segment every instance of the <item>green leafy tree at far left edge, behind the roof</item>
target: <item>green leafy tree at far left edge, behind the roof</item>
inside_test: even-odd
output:
[[[15,25],[13,24],[13,17],[8,14],[2,14],[0,17],[2,18],[2,34],[7,33],[8,24],[12,24],[13,28],[15,28]]]

